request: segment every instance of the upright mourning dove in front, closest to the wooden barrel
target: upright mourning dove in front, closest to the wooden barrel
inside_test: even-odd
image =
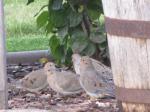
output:
[[[91,98],[114,97],[107,80],[94,68],[92,60],[84,56],[80,60],[80,84]]]

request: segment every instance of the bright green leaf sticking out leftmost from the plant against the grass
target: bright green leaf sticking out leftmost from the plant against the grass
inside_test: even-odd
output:
[[[43,11],[38,17],[37,17],[37,26],[38,28],[43,27],[48,22],[48,11]]]

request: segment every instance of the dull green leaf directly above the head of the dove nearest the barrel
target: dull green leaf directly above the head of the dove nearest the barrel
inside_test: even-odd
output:
[[[88,46],[82,52],[84,55],[92,56],[96,52],[96,45],[89,42]]]

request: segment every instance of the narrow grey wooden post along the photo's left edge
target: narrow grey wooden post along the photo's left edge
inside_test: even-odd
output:
[[[7,75],[3,0],[0,0],[0,109],[7,108]]]

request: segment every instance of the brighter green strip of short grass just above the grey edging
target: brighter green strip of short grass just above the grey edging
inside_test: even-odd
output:
[[[48,48],[48,38],[43,35],[27,35],[22,38],[8,38],[8,51],[45,50]]]

